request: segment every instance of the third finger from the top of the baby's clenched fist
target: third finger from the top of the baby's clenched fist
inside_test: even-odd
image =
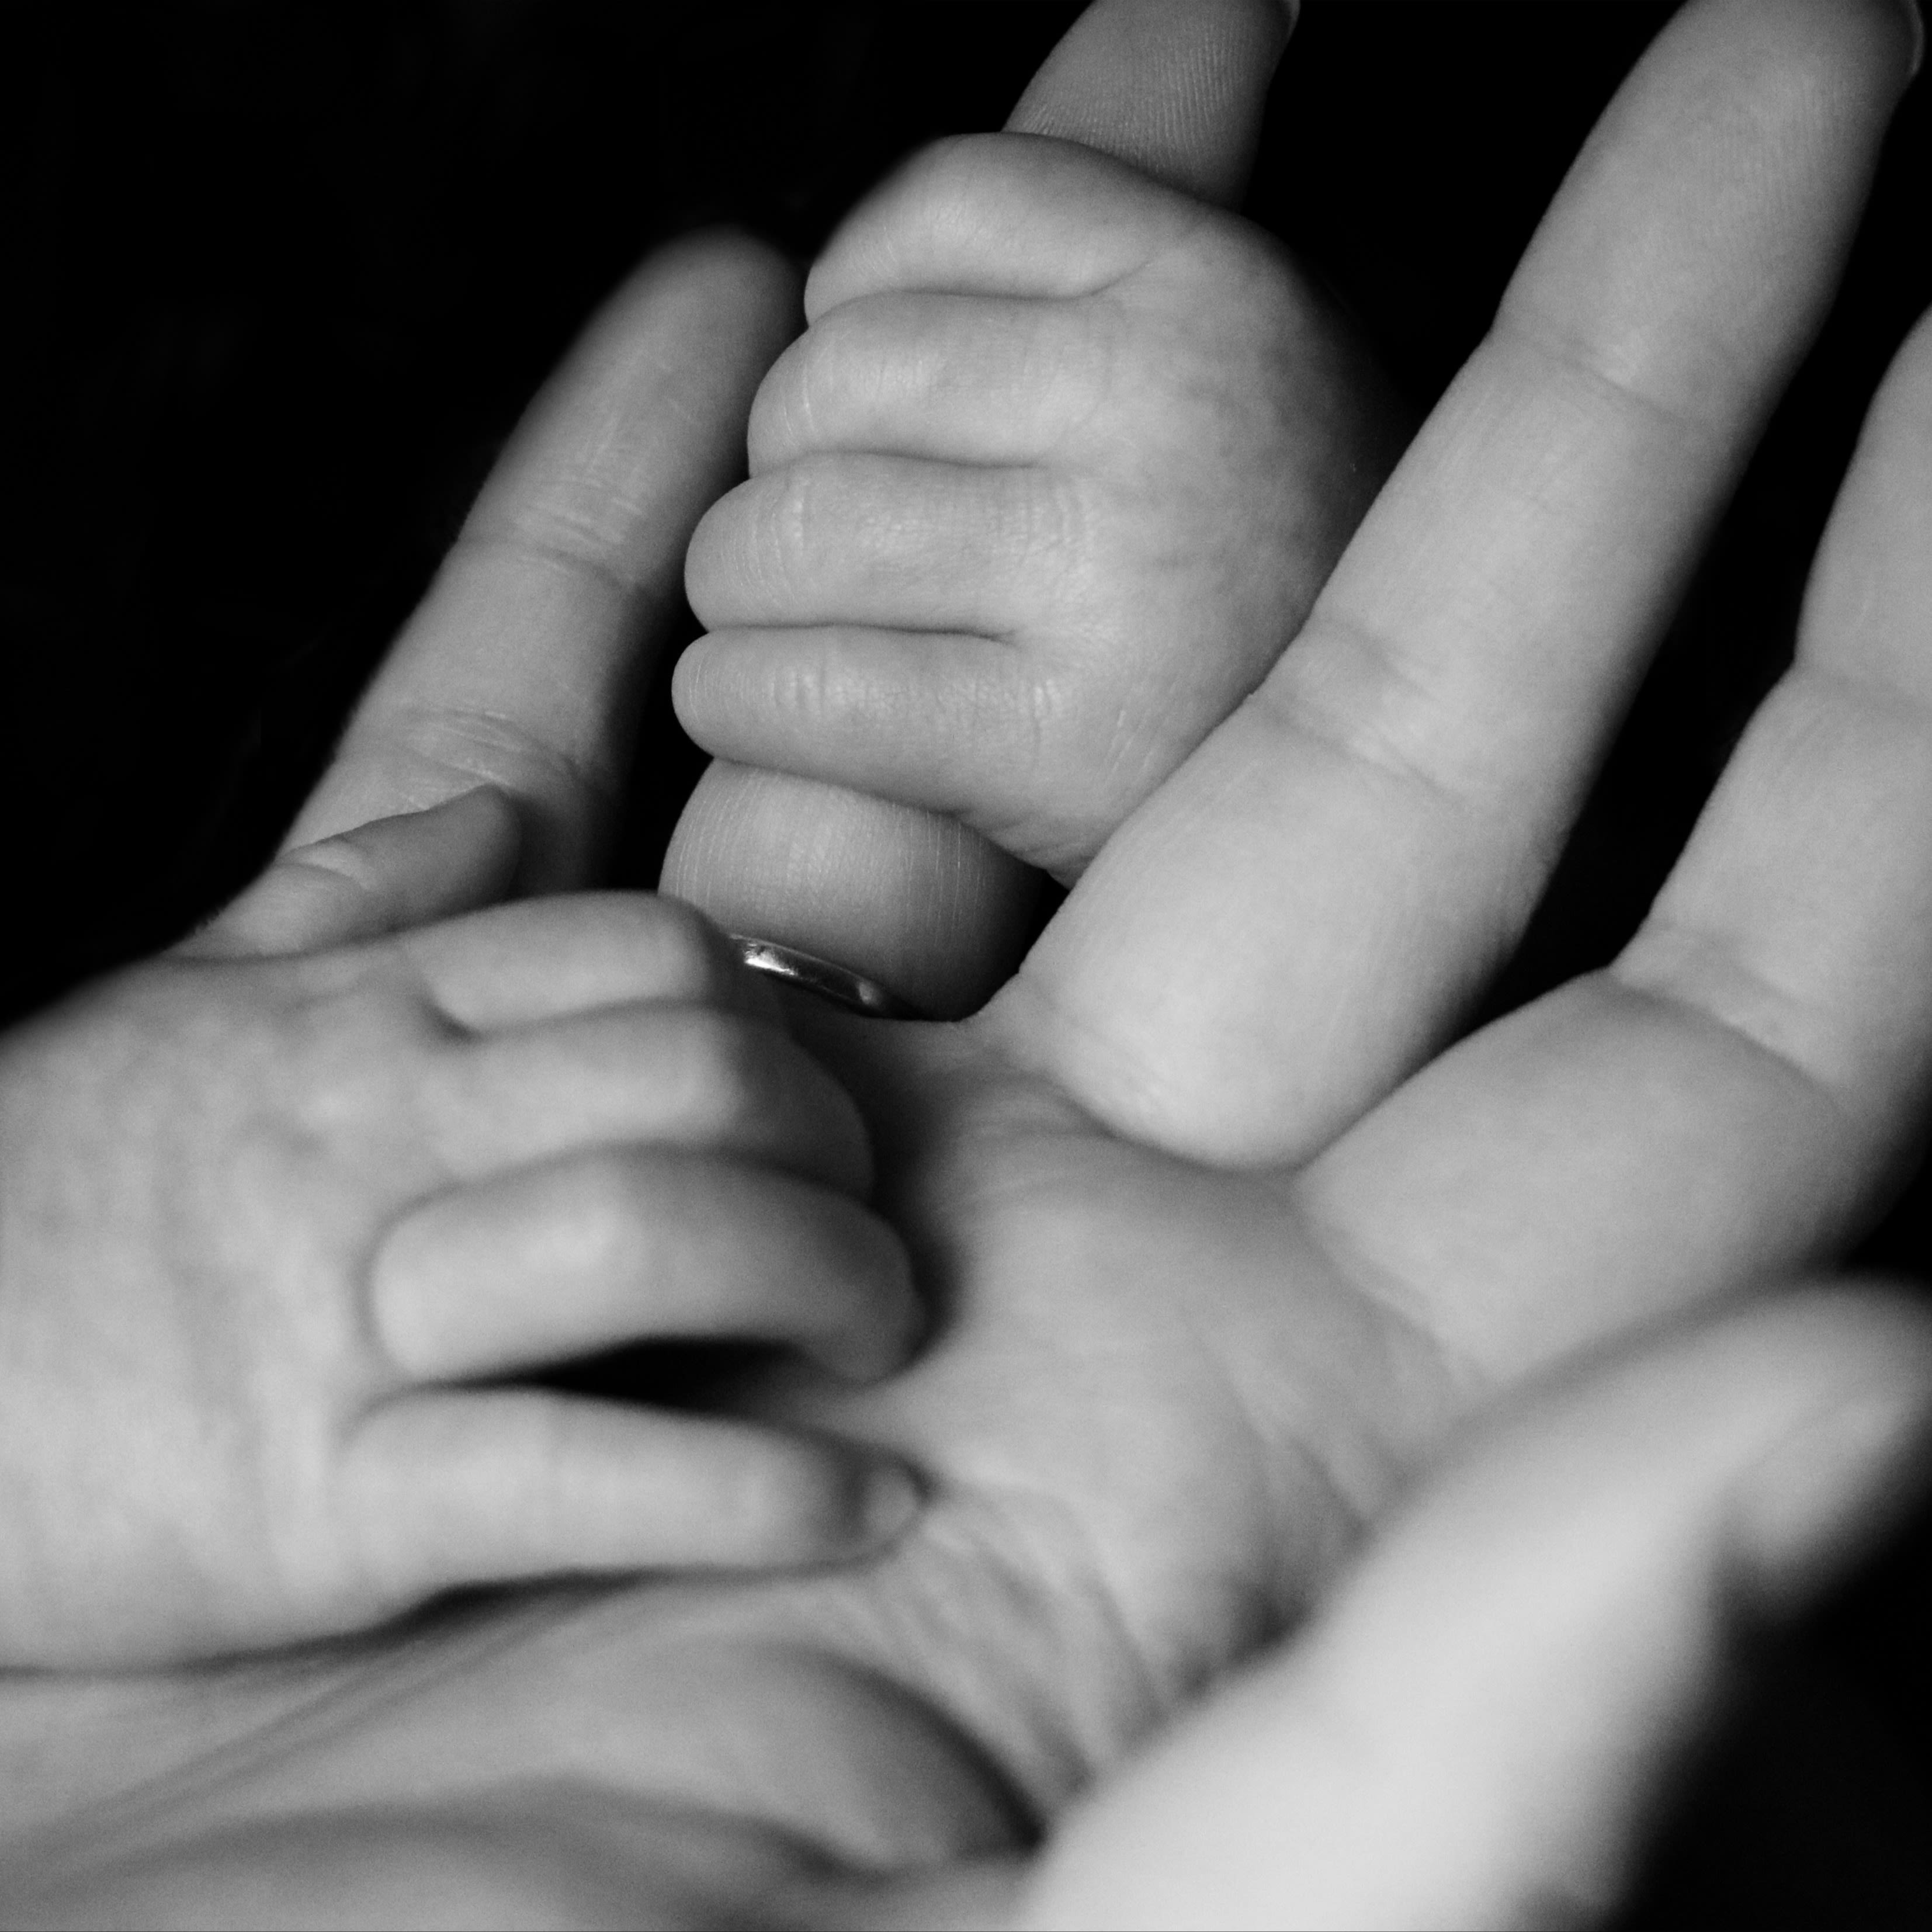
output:
[[[902,624],[1005,636],[1053,609],[1080,556],[1086,483],[1045,468],[827,450],[740,483],[692,537],[684,587],[711,630]]]

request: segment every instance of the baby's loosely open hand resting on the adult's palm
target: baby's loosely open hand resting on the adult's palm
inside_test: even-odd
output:
[[[885,1374],[918,1312],[867,1182],[850,1099],[668,900],[85,989],[0,1041],[0,1663],[875,1546],[912,1490],[869,1451],[522,1379],[668,1337]]]

